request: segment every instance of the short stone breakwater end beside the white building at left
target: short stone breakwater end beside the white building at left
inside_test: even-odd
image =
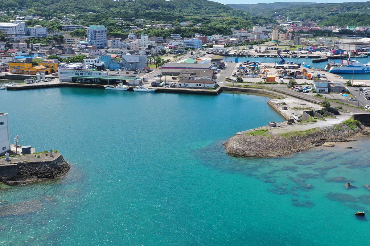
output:
[[[41,157],[37,157],[41,156]],[[0,161],[0,166],[4,162]],[[7,185],[24,185],[27,183],[46,179],[55,179],[64,176],[71,166],[65,161],[60,153],[36,154],[15,156],[10,158],[9,164],[4,164],[14,170],[13,173],[7,172],[7,176],[1,178],[1,182]]]

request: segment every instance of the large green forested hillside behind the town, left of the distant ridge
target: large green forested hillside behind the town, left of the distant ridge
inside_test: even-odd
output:
[[[79,24],[105,24],[111,34],[123,34],[123,30],[129,26],[138,25],[132,18],[143,18],[146,23],[153,20],[163,21],[174,26],[184,21],[202,23],[198,31],[193,31],[207,35],[214,33],[226,35],[231,33],[230,28],[249,28],[256,24],[275,22],[270,17],[252,16],[244,11],[206,0],[3,0],[0,1],[0,9],[10,15],[43,16],[46,20],[73,14],[73,19],[81,20]],[[13,10],[15,11],[10,12]],[[26,12],[22,13],[21,10]],[[122,18],[125,23],[117,25],[118,21],[114,18]],[[54,31],[60,29],[58,23],[32,21],[31,24],[41,24]],[[194,33],[193,31],[191,33]]]

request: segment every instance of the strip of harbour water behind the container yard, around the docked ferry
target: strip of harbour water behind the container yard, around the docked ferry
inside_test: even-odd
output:
[[[268,55],[269,56],[269,55]],[[276,56],[276,55],[275,55]],[[249,61],[261,61],[263,63],[275,63],[279,62],[281,59],[279,57],[245,57],[245,56],[239,56],[239,57],[226,57],[226,61],[233,61],[235,62],[235,58],[239,58],[239,63],[244,62],[246,60]],[[334,61],[335,63],[340,63],[340,59],[329,59],[329,61],[323,61],[321,63],[313,63],[312,58],[287,58],[284,57],[285,61],[293,61],[294,63],[303,63],[306,62],[306,64],[311,65],[312,67],[315,68],[325,68],[326,64],[329,63],[330,61]],[[370,63],[370,57],[366,58],[353,58],[352,60],[359,61],[360,63],[366,64]],[[339,74],[341,77],[344,79],[351,79],[352,74]],[[353,78],[355,80],[370,80],[370,74],[354,74]]]

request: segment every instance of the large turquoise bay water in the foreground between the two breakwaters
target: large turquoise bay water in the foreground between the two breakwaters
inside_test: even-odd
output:
[[[367,245],[369,220],[354,216],[369,214],[366,139],[275,159],[225,154],[235,132],[283,120],[267,101],[0,91],[11,136],[72,165],[63,179],[0,190],[0,200],[36,209],[0,217],[0,245]]]

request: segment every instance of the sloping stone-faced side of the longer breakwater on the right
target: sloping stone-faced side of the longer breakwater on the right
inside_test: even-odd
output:
[[[226,153],[243,157],[279,157],[305,151],[326,142],[344,142],[360,133],[362,127],[352,130],[345,124],[295,131],[286,134],[235,135],[226,143]],[[362,132],[363,133],[363,132]]]

